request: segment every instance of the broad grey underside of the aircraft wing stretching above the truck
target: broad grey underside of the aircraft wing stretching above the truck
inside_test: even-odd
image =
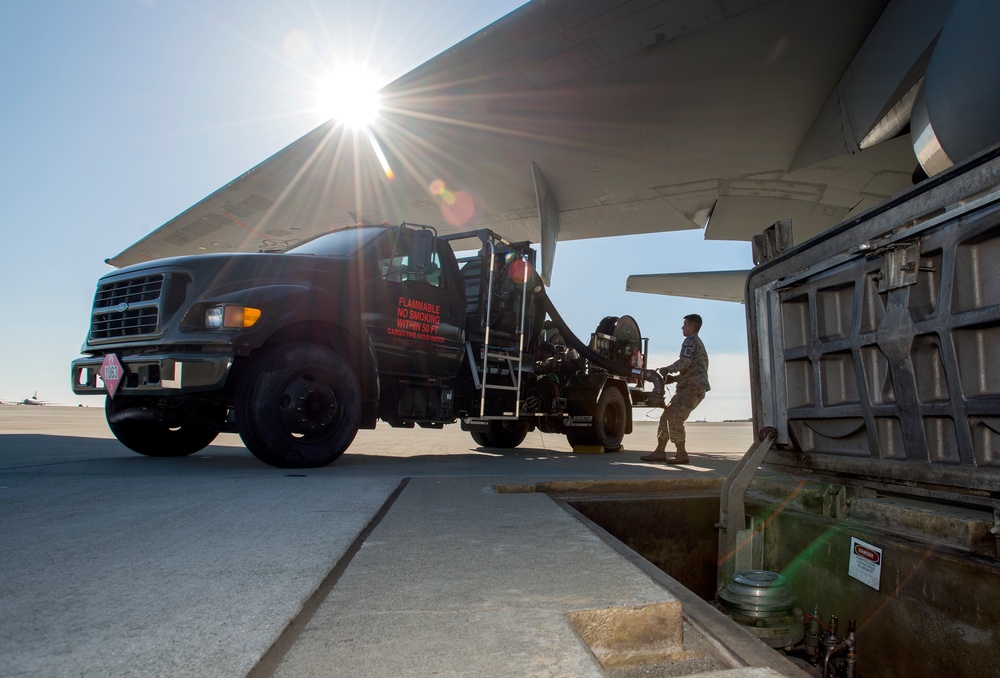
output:
[[[882,3],[847,5],[531,2],[385,88],[370,132],[320,126],[109,263],[280,249],[359,221],[537,242],[532,163],[560,239],[704,228],[710,215],[708,236],[732,237],[741,203],[766,220],[772,197],[836,223],[871,182],[845,182],[834,205],[810,182],[836,168],[787,168]],[[893,163],[871,195],[908,176]]]

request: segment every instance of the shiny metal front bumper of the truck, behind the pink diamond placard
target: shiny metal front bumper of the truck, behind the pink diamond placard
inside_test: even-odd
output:
[[[218,391],[225,386],[233,366],[232,353],[117,355],[123,367],[117,393],[124,395],[171,396]],[[103,362],[104,356],[73,361],[73,393],[106,395],[107,390],[101,379]]]

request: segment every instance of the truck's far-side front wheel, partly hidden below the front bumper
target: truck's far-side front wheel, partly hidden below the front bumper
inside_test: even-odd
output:
[[[131,407],[139,407],[133,398],[104,400],[104,415],[108,428],[125,447],[147,457],[186,457],[203,450],[219,435],[207,426],[181,424],[171,426],[162,421],[135,419],[111,423],[112,416]],[[220,418],[221,421],[221,418]]]

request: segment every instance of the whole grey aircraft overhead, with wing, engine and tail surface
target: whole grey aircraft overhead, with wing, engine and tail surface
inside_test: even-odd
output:
[[[1000,142],[997,25],[981,0],[533,0],[384,88],[370,128],[321,125],[108,263],[357,221],[541,242],[546,280],[557,240],[802,242]],[[738,301],[745,275],[629,287]]]

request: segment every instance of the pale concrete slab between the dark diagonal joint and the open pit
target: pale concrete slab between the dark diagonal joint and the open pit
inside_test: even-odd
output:
[[[601,675],[565,614],[671,597],[547,496],[493,484],[411,481],[276,675]]]

